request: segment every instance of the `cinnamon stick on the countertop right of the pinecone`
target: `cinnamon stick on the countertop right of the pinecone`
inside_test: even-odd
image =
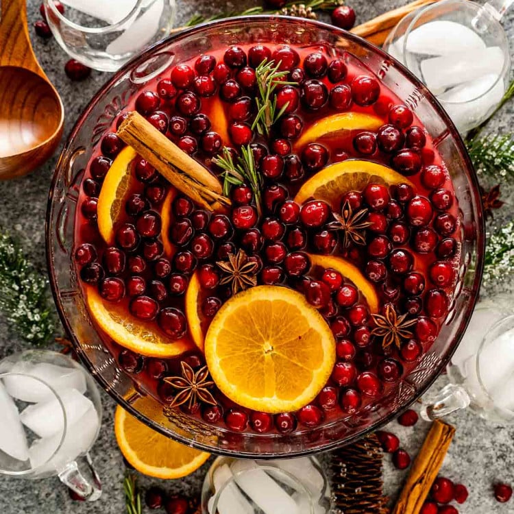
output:
[[[444,421],[436,420],[432,423],[391,514],[419,514],[441,469],[454,433],[455,428]]]

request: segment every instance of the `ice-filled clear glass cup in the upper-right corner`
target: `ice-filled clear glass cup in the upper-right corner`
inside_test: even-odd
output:
[[[437,97],[461,134],[485,121],[509,86],[509,40],[499,19],[511,2],[432,3],[405,16],[384,42],[384,50]]]

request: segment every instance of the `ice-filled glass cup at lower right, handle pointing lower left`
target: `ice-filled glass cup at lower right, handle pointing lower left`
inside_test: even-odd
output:
[[[511,304],[512,306],[512,304]],[[485,332],[478,347],[448,366],[450,384],[436,395],[424,398],[421,416],[438,419],[461,408],[500,424],[514,423],[514,314],[505,315],[501,306],[484,307],[481,316]],[[471,334],[480,341],[480,332]]]

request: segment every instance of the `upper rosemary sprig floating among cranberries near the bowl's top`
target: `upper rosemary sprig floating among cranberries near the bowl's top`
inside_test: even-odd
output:
[[[280,71],[280,62],[263,60],[256,68],[258,95],[256,97],[257,114],[252,123],[252,130],[257,129],[261,136],[269,136],[273,123],[284,114],[289,102],[277,112],[277,97],[273,95],[277,86],[295,86],[296,82],[284,79],[287,71]]]

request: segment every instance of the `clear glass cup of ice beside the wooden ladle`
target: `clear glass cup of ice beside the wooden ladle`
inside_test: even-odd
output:
[[[59,45],[99,71],[117,71],[136,53],[166,37],[175,20],[175,0],[63,0],[64,14],[44,0]]]

